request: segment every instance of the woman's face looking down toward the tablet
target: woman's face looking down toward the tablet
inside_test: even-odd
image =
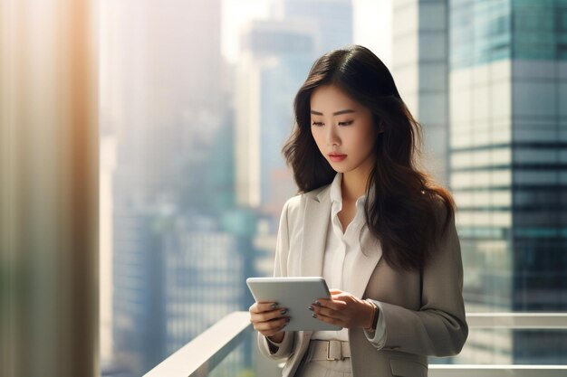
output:
[[[334,85],[314,90],[310,104],[312,136],[322,156],[338,173],[368,176],[379,134],[370,109]]]

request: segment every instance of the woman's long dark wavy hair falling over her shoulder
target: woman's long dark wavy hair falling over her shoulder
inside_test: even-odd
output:
[[[331,184],[336,174],[311,133],[312,92],[328,84],[369,108],[375,127],[383,127],[366,187],[372,200],[365,204],[367,224],[380,240],[382,257],[394,269],[422,269],[455,216],[455,203],[445,188],[419,171],[420,125],[399,97],[388,68],[365,47],[353,45],[324,54],[295,96],[295,125],[283,156],[300,193]],[[439,208],[444,209],[442,216]]]

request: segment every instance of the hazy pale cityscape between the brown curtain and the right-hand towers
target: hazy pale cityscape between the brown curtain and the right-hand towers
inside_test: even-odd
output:
[[[334,48],[389,61],[392,8],[105,0],[100,17],[101,365],[134,376],[252,304],[297,190],[293,96]]]

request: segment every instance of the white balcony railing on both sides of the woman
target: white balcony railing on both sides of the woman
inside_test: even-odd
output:
[[[474,313],[469,328],[567,329],[567,313]],[[234,312],[218,321],[144,377],[206,377],[252,331],[248,312]],[[429,364],[431,377],[562,377],[567,365]]]

